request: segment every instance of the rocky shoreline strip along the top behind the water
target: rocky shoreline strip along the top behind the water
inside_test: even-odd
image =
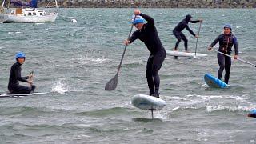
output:
[[[256,0],[58,0],[65,8],[256,8]]]

